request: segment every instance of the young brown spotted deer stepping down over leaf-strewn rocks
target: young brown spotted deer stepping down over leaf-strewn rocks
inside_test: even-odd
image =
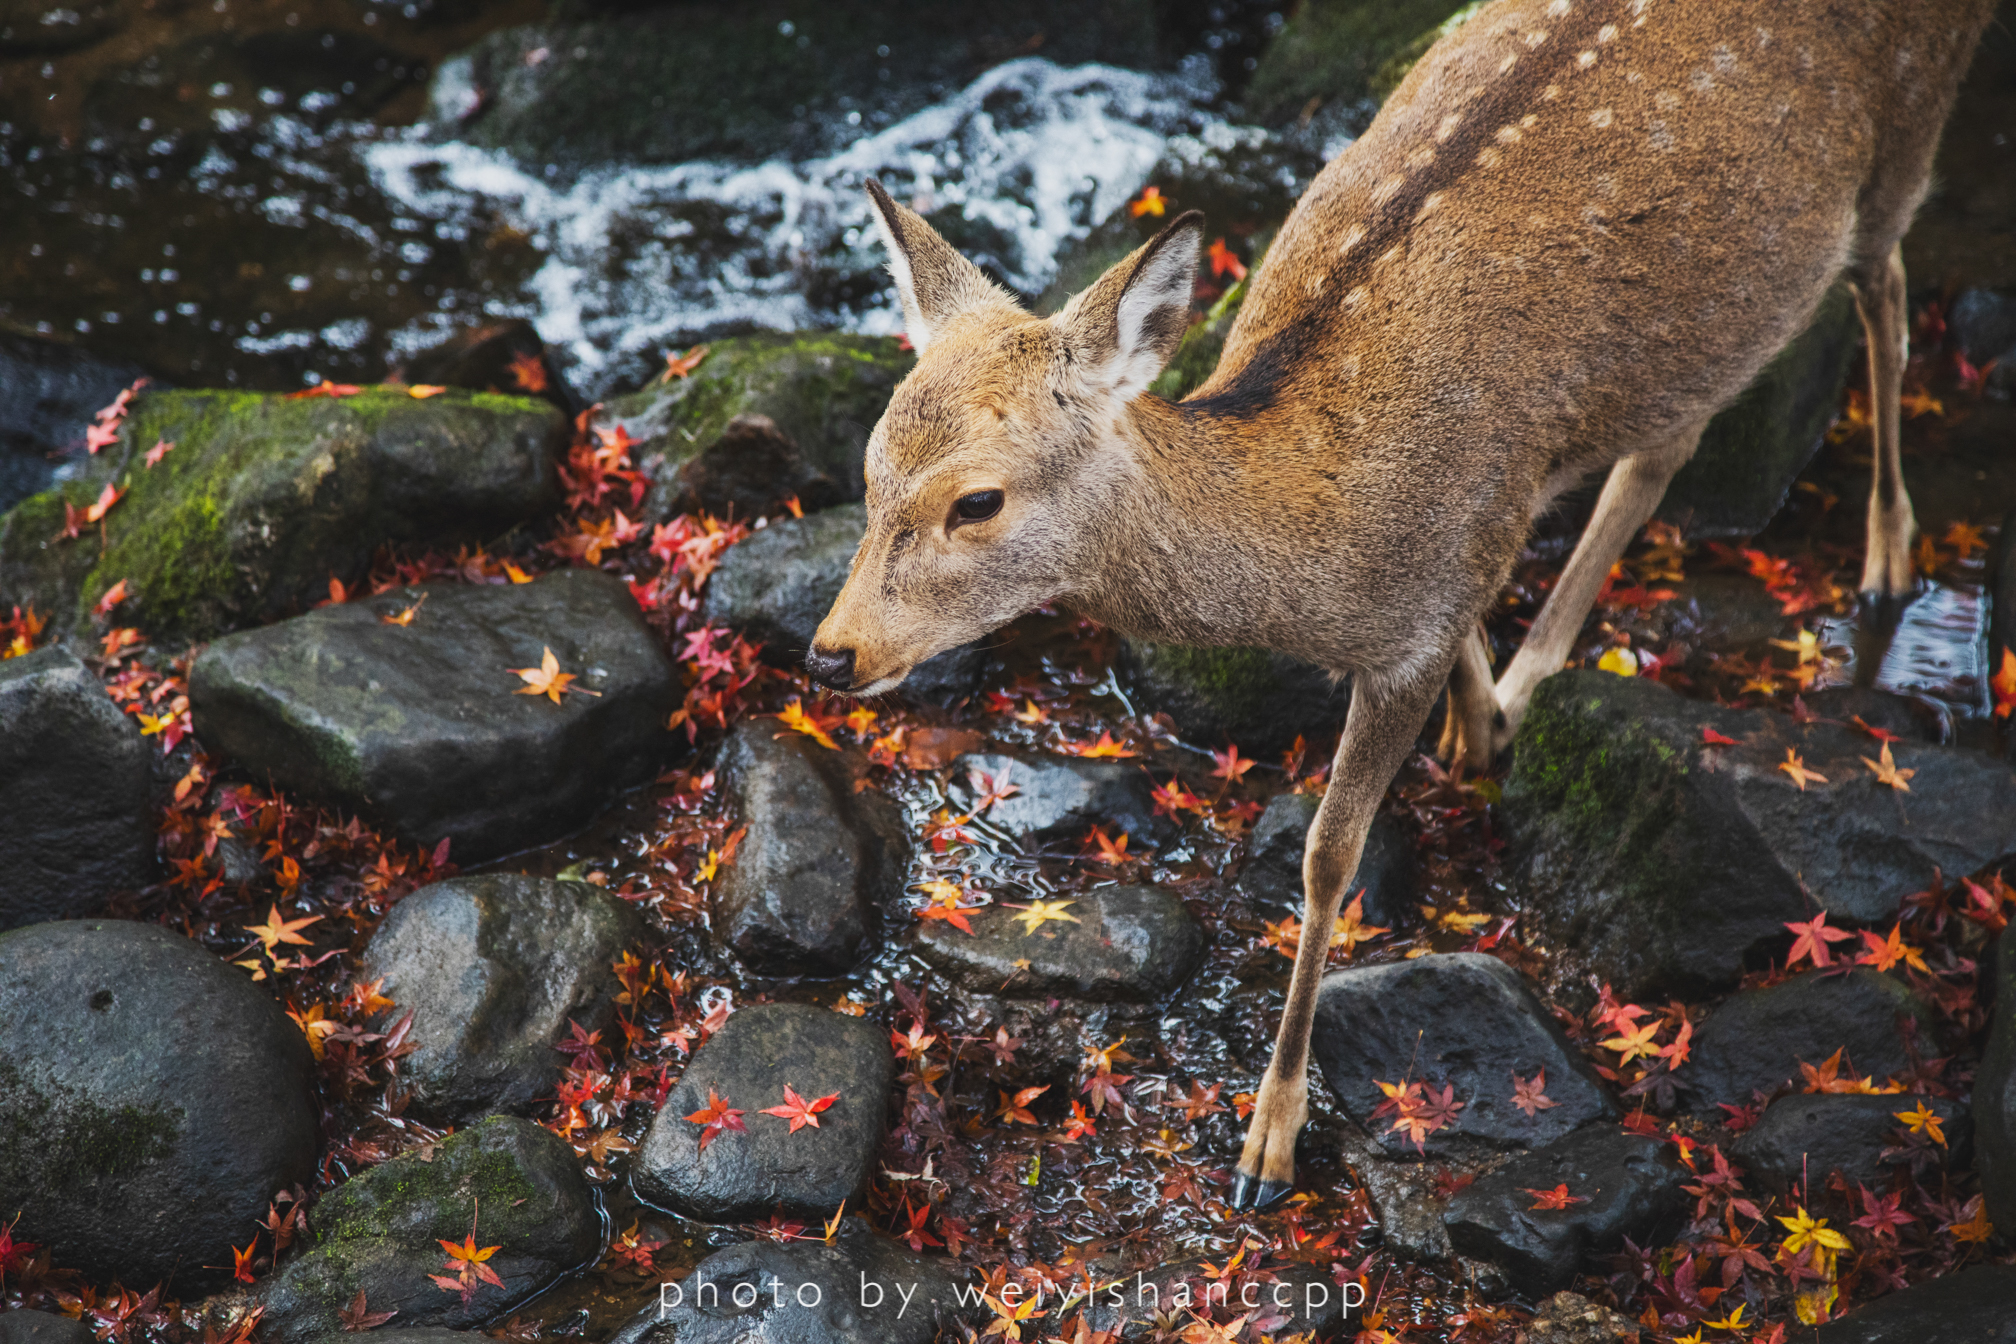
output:
[[[1353,677],[1236,1207],[1294,1181],[1316,981],[1365,830],[1450,685],[1512,740],[1702,425],[1847,274],[1877,407],[1863,588],[1911,584],[1897,240],[1990,0],[1498,0],[1302,195],[1212,379],[1147,395],[1189,316],[1187,214],[1052,318],[869,183],[917,367],[869,439],[869,530],[806,667],[873,695],[1040,602]],[[1609,472],[1496,687],[1480,615],[1534,514]]]

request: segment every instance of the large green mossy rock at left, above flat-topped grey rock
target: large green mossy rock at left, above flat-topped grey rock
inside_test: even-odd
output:
[[[321,600],[381,544],[484,542],[558,502],[566,421],[536,401],[373,389],[143,393],[133,407],[119,443],[0,518],[0,590],[58,631],[125,580],[123,623],[210,639]],[[175,447],[147,467],[159,441]],[[83,510],[111,482],[127,494],[103,548],[56,540],[65,504]]]

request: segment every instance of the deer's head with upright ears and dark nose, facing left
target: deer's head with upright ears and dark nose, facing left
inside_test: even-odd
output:
[[[1119,423],[1189,322],[1189,212],[1038,318],[869,181],[917,367],[867,447],[867,534],[804,665],[873,695],[1093,582],[1141,474]]]

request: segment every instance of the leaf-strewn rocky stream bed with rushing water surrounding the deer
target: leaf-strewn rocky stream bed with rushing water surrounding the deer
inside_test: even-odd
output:
[[[1038,611],[814,693],[911,361],[851,193],[1038,306],[1208,210],[1181,395],[1456,6],[1024,8],[0,4],[0,1344],[2016,1328],[2010,24],[1895,637],[1837,292],[1403,770],[1236,1213],[1349,685]]]

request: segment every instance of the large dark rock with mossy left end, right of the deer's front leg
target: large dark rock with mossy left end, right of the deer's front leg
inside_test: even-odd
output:
[[[1708,746],[1712,727],[1738,746]],[[1833,723],[1722,709],[1637,677],[1540,683],[1504,790],[1528,919],[1562,981],[1621,997],[1728,989],[1780,955],[1784,925],[1887,925],[1933,870],[2016,856],[2016,772],[1976,752],[1899,746],[1911,792],[1875,782],[1871,740]],[[1824,782],[1778,770],[1798,752]],[[1810,905],[1808,905],[1810,903]]]

